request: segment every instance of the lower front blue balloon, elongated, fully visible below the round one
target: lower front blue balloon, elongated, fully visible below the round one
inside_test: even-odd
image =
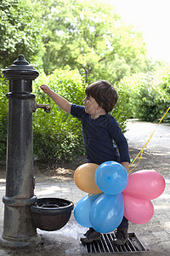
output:
[[[90,222],[99,233],[109,233],[121,224],[124,213],[122,193],[100,195],[90,210]]]

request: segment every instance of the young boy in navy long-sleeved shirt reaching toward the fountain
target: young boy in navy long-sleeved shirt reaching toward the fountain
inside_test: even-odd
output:
[[[99,80],[88,85],[85,90],[86,97],[83,100],[85,107],[68,102],[50,90],[46,84],[42,84],[40,88],[51,97],[59,108],[81,120],[83,142],[89,163],[100,165],[105,161],[113,160],[121,163],[128,172],[130,158],[127,140],[116,119],[108,113],[115,107],[118,99],[115,88],[108,81]],[[127,228],[127,218],[123,217],[122,223],[117,227],[114,244],[126,243]],[[99,232],[90,228],[82,236],[81,241],[97,241],[100,237]]]

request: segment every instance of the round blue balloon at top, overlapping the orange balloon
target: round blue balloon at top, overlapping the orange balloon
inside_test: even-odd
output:
[[[95,182],[105,194],[119,194],[127,187],[127,170],[115,161],[106,161],[97,168]]]

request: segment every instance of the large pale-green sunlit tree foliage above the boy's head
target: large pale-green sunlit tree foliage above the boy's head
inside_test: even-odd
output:
[[[69,65],[78,68],[86,82],[105,77],[116,82],[125,75],[144,71],[146,47],[142,34],[125,26],[110,5],[97,0],[32,3],[44,27],[45,73]]]

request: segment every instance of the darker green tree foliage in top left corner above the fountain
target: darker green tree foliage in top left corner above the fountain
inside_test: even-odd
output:
[[[31,3],[1,0],[0,24],[0,68],[11,65],[19,54],[24,54],[34,66],[40,66],[41,26],[34,17]]]

